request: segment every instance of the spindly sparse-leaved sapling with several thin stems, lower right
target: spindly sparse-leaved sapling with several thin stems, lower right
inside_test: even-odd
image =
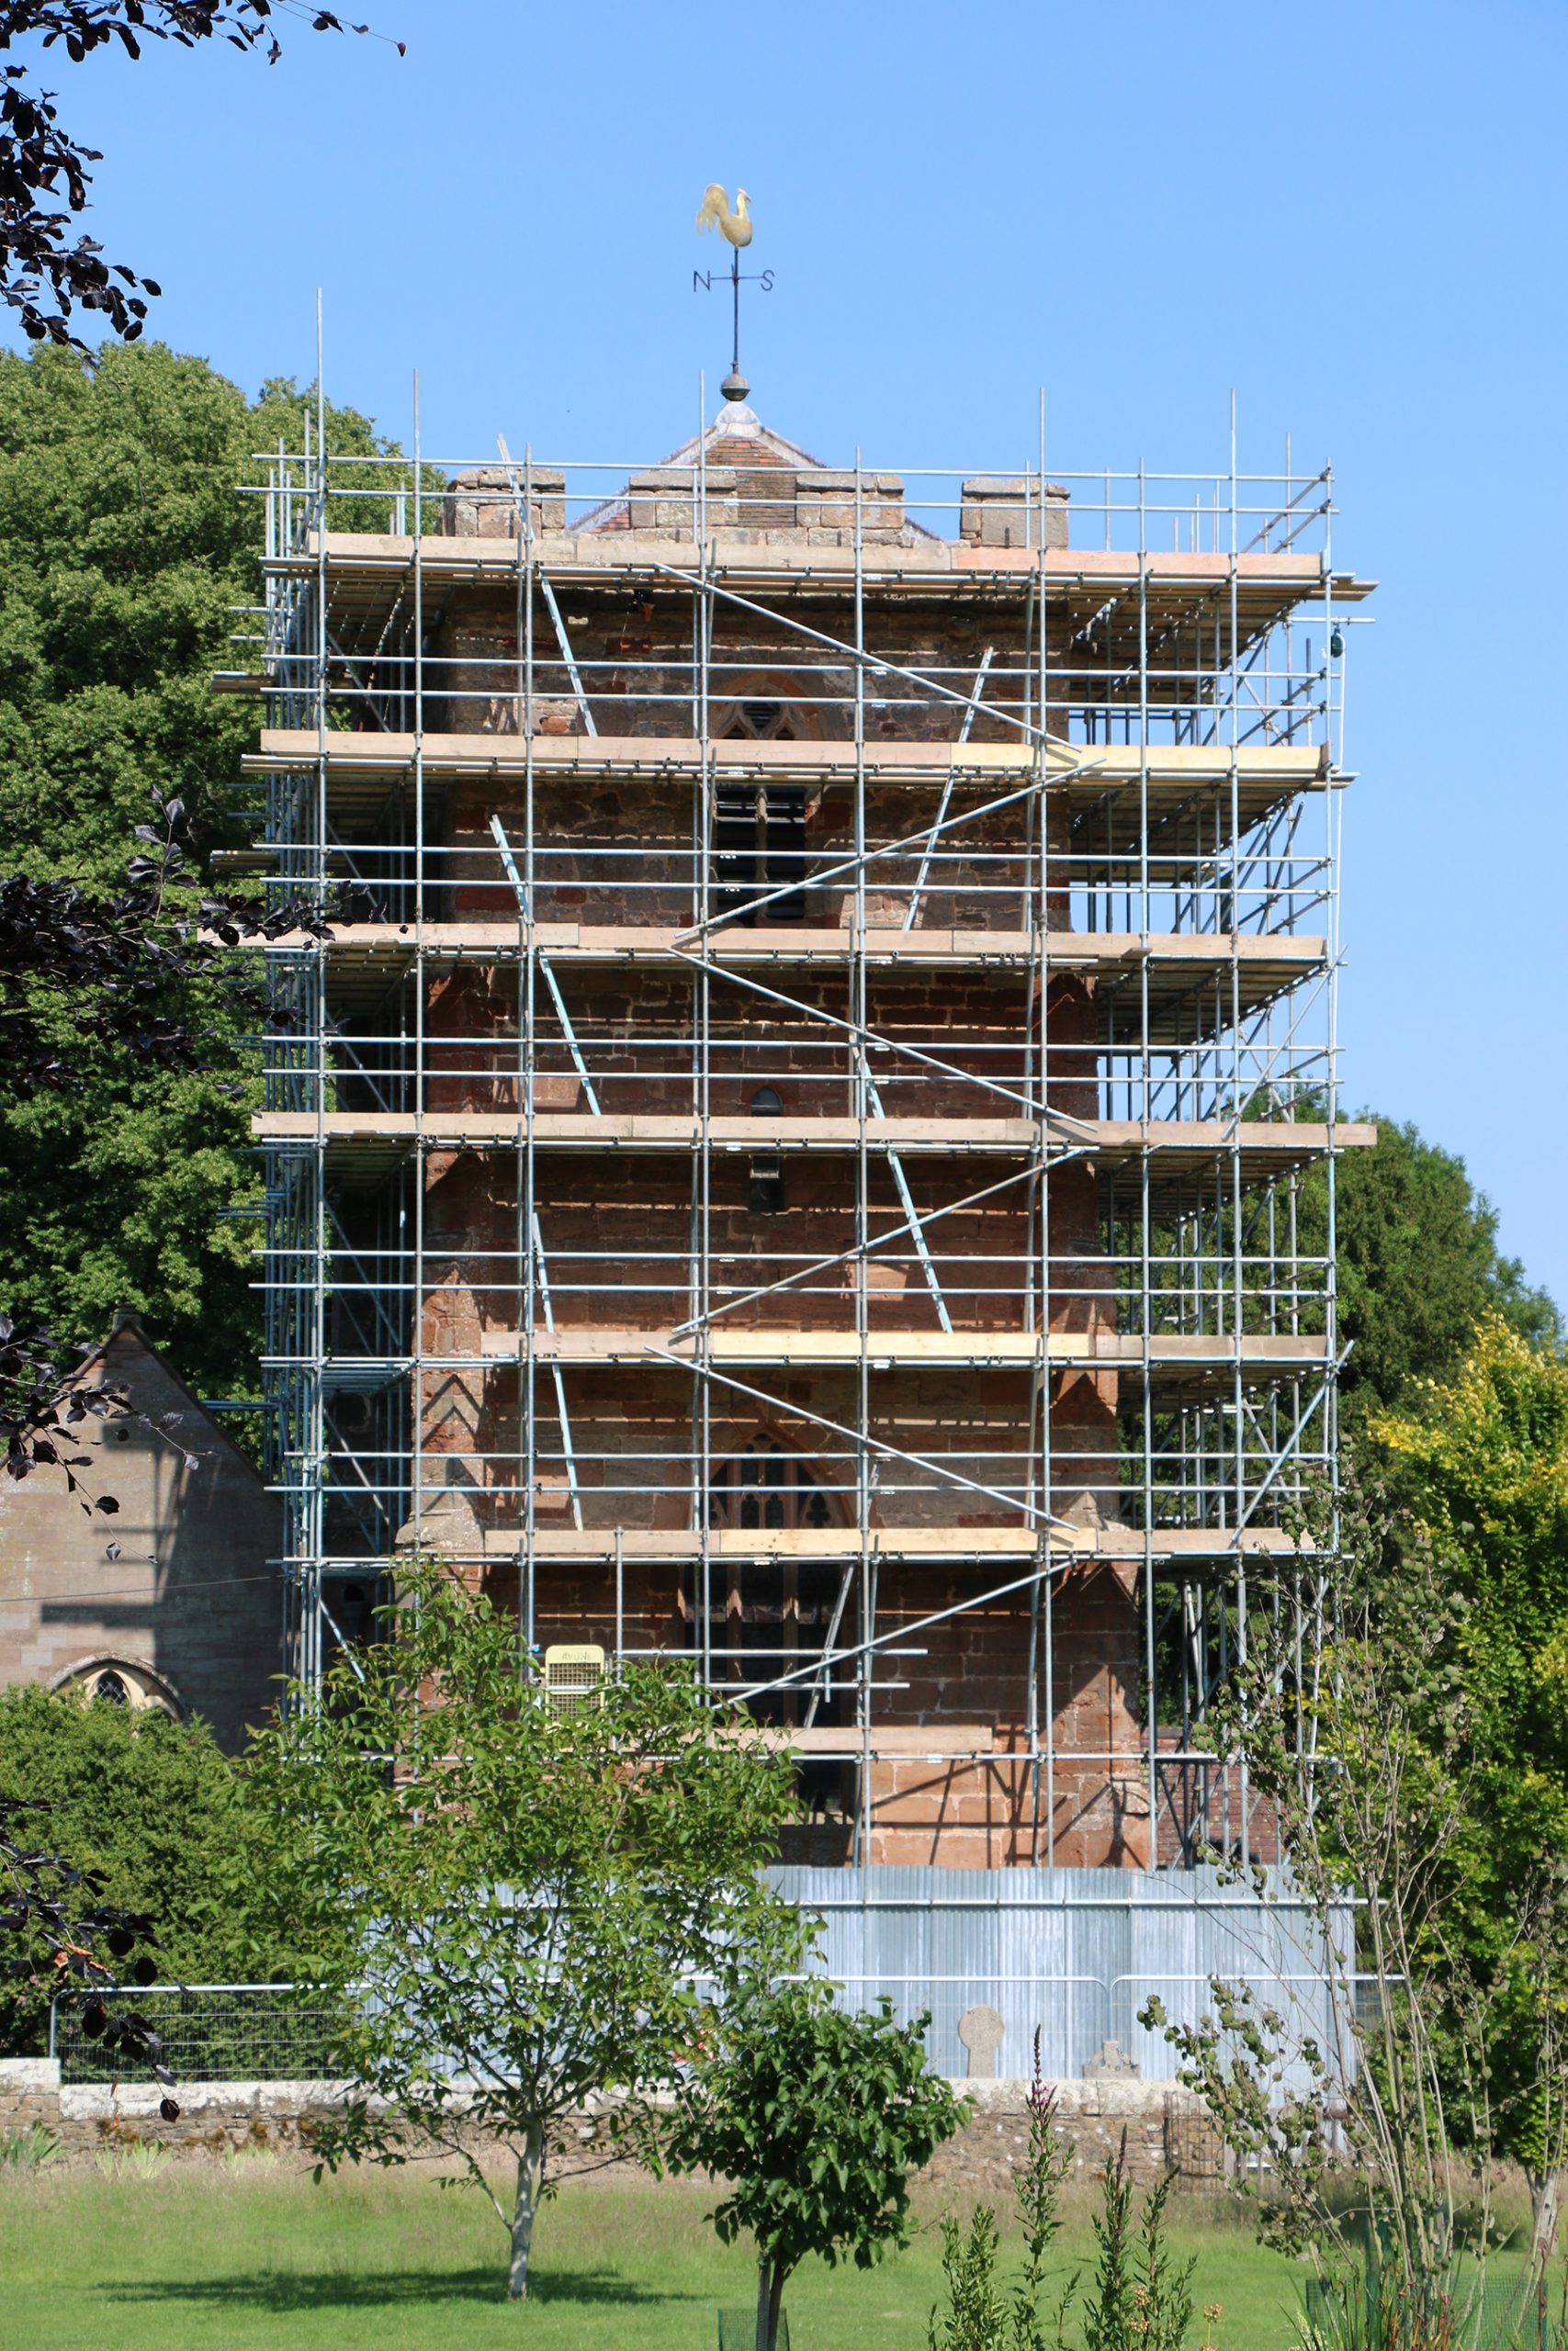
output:
[[[1535,2029],[1542,2179],[1563,2161],[1554,2020],[1568,1980],[1568,1886],[1542,1853],[1476,1965],[1465,1878],[1486,1784],[1465,1674],[1469,1608],[1420,1528],[1394,1545],[1373,1493],[1349,1491],[1338,1509],[1319,1498],[1298,1535],[1305,1556],[1260,1594],[1208,1728],[1279,1822],[1324,1956],[1326,2031],[1220,1980],[1194,2024],[1173,2024],[1159,2001],[1140,2022],[1180,2050],[1182,2081],[1239,2158],[1241,2193],[1267,2179],[1260,2233],[1342,2283],[1366,2222],[1368,2309],[1396,2302],[1420,2346],[1446,2339],[1481,2288],[1479,2264],[1460,2273],[1455,2255],[1472,2191],[1486,2252],[1481,2158],[1509,2128],[1497,1980],[1519,1987]],[[1519,2020],[1507,2029],[1519,2034]],[[1345,2156],[1366,2208],[1354,2219],[1333,2182]],[[1549,2217],[1537,2201],[1537,2269]],[[1338,2288],[1331,2306],[1349,2309]]]

